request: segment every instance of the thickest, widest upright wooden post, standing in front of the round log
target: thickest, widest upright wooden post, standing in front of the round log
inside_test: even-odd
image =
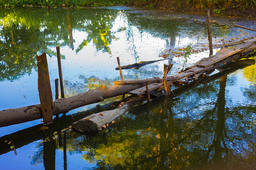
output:
[[[43,124],[48,124],[52,122],[53,101],[46,53],[43,53],[40,56],[37,55],[36,59],[38,72],[38,92],[41,103]]]

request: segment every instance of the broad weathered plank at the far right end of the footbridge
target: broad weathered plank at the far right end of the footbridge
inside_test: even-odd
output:
[[[240,51],[252,46],[253,44],[254,44],[254,42],[247,42],[247,43],[239,45],[233,49],[226,49],[225,46],[223,45],[221,50],[218,53],[216,53],[216,55],[214,57],[212,57],[211,60],[205,60],[205,61],[201,62],[200,64],[197,65],[197,67],[206,68],[206,67],[208,67],[214,63],[217,63],[218,61],[223,60],[233,54],[239,53]]]

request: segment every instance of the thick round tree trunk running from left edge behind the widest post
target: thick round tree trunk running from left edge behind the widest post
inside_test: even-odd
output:
[[[145,84],[131,84],[122,86],[101,86],[85,93],[74,95],[68,98],[60,98],[53,101],[52,113],[57,115],[67,113],[78,107],[97,103],[106,98],[126,94],[132,90],[145,86]],[[31,105],[26,107],[7,109],[0,111],[0,127],[23,123],[42,118],[41,105]]]

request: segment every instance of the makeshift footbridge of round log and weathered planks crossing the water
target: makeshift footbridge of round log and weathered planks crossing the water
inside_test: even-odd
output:
[[[238,45],[233,49],[226,49],[223,47],[223,49],[220,52],[218,52],[215,56],[212,56],[210,58],[205,58],[202,61],[198,62],[193,67],[190,67],[189,69],[186,69],[179,74],[176,74],[174,76],[167,78],[167,81],[168,81],[167,83],[172,84],[172,82],[174,81],[179,81],[182,78],[189,77],[189,76],[192,76],[195,78],[196,74],[203,74],[204,72],[207,72],[209,69],[214,69],[223,64],[226,64],[232,61],[233,59],[236,59],[240,54],[256,49],[255,42],[256,42],[256,38],[253,38],[253,39],[244,41],[243,44]],[[223,55],[224,53],[230,58]],[[223,57],[220,58],[219,57],[220,55]],[[225,63],[222,63],[226,59],[228,60]],[[204,65],[202,64],[203,62],[205,62]],[[60,113],[67,113],[72,109],[89,105],[92,103],[97,103],[97,102],[103,101],[106,98],[123,95],[129,92],[133,94],[133,90],[137,91],[137,93],[134,93],[134,94],[138,94],[138,95],[144,94],[146,93],[145,83],[149,81],[160,82],[159,84],[158,83],[150,84],[149,85],[150,91],[163,86],[163,84],[161,84],[163,79],[157,79],[157,78],[146,79],[146,80],[134,80],[133,84],[131,84],[131,81],[130,82],[126,81],[127,83],[125,85],[115,85],[111,87],[101,86],[97,89],[89,90],[88,92],[85,92],[85,93],[74,95],[68,98],[60,98],[53,101],[52,114],[57,115]],[[119,84],[122,84],[122,83],[119,82]],[[141,87],[142,89],[139,89]],[[21,108],[6,109],[6,110],[0,111],[0,127],[23,123],[31,120],[40,119],[40,118],[42,118],[40,104],[21,107]]]

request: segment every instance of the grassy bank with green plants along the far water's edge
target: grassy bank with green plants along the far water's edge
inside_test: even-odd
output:
[[[15,6],[44,6],[44,7],[97,7],[132,5],[148,8],[162,7],[175,10],[202,10],[211,8],[214,13],[239,11],[244,14],[256,14],[256,0],[2,0],[1,7]]]

